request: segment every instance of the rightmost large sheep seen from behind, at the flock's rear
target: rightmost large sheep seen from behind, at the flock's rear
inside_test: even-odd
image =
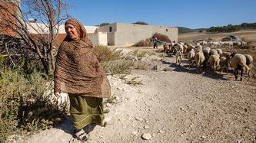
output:
[[[238,70],[241,70],[241,78],[245,70],[250,70],[250,68],[246,65],[246,57],[243,54],[231,54],[231,67],[234,68],[234,78],[238,80]]]

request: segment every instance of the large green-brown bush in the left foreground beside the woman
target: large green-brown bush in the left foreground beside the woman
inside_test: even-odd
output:
[[[21,67],[2,68],[0,73],[0,142],[8,135],[51,128],[61,121],[65,111],[44,96],[53,87],[44,73],[25,74]]]

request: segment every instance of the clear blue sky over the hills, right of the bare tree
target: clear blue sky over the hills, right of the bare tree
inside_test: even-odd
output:
[[[256,0],[69,0],[69,15],[85,25],[103,22],[209,28],[256,22]]]

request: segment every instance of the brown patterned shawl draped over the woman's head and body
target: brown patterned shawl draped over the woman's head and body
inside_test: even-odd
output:
[[[58,49],[55,64],[55,92],[109,97],[111,89],[108,79],[83,24],[74,18],[68,19],[66,24],[72,24],[80,38],[71,40],[67,35]]]

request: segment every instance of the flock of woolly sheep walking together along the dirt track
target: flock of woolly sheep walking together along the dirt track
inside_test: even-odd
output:
[[[253,65],[253,58],[250,54],[236,54],[231,52],[224,52],[221,48],[232,48],[246,44],[243,42],[221,42],[221,41],[201,41],[192,44],[185,44],[183,42],[171,42],[164,44],[166,53],[175,54],[176,63],[181,64],[182,57],[188,57],[189,68],[196,67],[198,73],[201,73],[202,68],[211,67],[214,73],[217,73],[218,67],[221,68],[221,73],[228,68],[234,71],[235,80],[238,80],[238,71],[241,70],[241,79],[245,73],[250,76]]]

